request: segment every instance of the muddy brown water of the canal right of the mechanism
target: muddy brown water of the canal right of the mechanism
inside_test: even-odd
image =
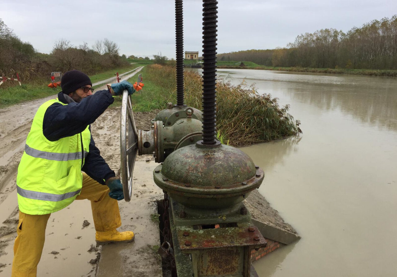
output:
[[[218,69],[255,84],[301,120],[303,135],[242,150],[260,193],[302,239],[254,263],[258,275],[397,275],[397,79]]]

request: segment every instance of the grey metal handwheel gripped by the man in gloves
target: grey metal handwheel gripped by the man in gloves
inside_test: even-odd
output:
[[[132,193],[132,173],[138,152],[138,133],[132,112],[131,96],[123,91],[120,121],[121,181],[124,200],[129,202]]]

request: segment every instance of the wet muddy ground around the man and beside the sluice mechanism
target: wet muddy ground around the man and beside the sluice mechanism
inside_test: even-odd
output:
[[[11,272],[18,222],[15,179],[26,136],[39,105],[55,97],[0,110],[0,276],[10,276]],[[157,113],[134,113],[137,129],[149,130],[150,120]],[[119,120],[120,108],[109,108],[91,126],[102,157],[116,174],[120,172]],[[156,201],[163,197],[152,179],[157,165],[152,156],[138,156],[131,202],[119,201],[119,229],[133,230],[133,243],[96,246],[90,203],[75,201],[50,216],[38,276],[162,276],[156,254],[159,231],[153,220]],[[295,232],[258,191],[253,191],[246,202],[254,218]]]

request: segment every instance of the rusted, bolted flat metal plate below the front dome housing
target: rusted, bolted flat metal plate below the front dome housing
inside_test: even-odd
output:
[[[251,224],[243,227],[193,230],[177,227],[177,236],[181,251],[222,248],[231,246],[265,247],[266,240],[258,228]]]

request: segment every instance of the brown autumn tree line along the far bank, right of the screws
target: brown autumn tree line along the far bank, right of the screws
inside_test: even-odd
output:
[[[321,29],[301,34],[285,48],[219,54],[218,60],[274,67],[397,69],[397,15],[346,33]]]

